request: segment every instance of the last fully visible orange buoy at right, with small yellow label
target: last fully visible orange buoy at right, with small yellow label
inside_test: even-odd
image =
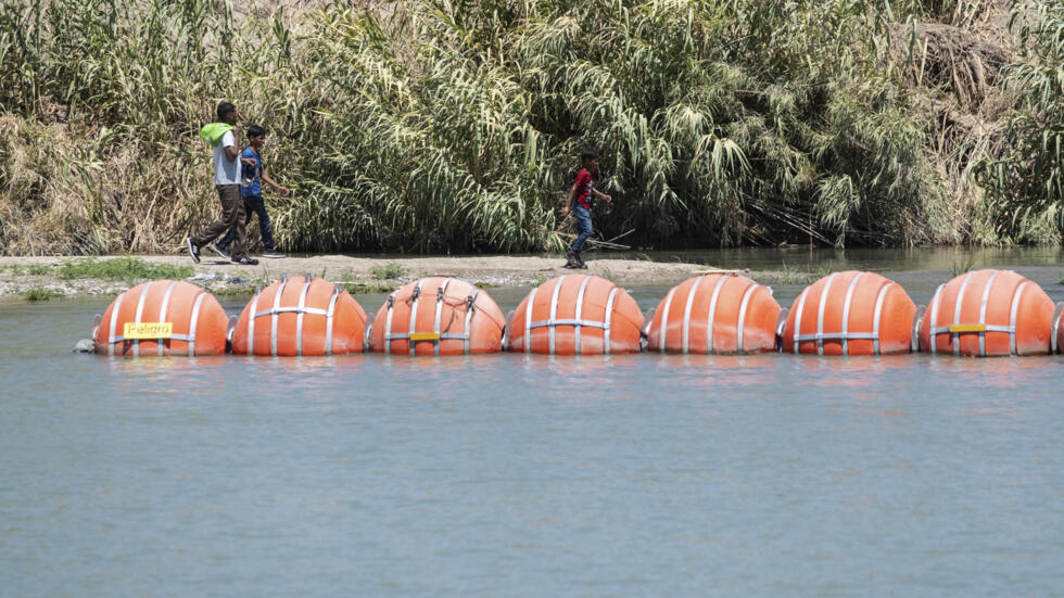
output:
[[[920,322],[920,351],[988,357],[1052,348],[1053,301],[1012,270],[973,270],[938,287]]]

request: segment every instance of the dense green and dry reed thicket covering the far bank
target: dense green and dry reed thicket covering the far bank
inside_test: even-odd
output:
[[[642,246],[1057,243],[1064,9],[973,33],[998,4],[9,1],[0,253],[173,251],[220,100],[271,131],[287,250],[555,249],[587,145]]]

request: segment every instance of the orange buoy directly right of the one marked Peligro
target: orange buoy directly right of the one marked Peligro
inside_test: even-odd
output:
[[[237,355],[362,353],[366,311],[347,291],[309,275],[255,292],[232,332]]]

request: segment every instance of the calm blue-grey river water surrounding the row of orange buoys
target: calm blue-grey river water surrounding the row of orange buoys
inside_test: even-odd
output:
[[[704,255],[871,269],[917,304],[951,277]],[[974,255],[1064,301],[1055,251]],[[1064,357],[73,355],[109,302],[0,303],[4,596],[1064,587]]]

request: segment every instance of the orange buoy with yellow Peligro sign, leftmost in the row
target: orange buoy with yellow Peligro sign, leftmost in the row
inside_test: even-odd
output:
[[[226,325],[211,293],[179,280],[156,280],[118,295],[92,336],[96,352],[107,355],[220,355]]]

